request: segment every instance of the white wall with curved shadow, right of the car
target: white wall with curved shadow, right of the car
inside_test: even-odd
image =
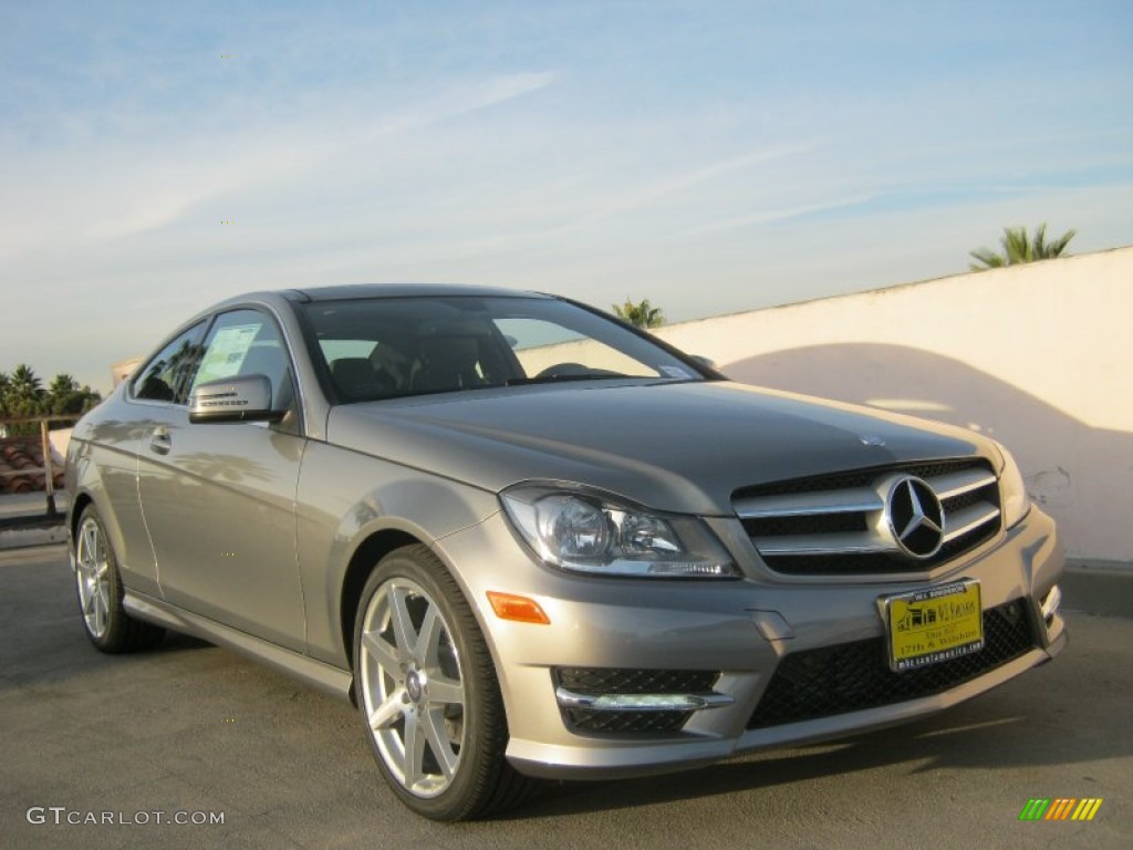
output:
[[[1133,247],[687,322],[736,381],[962,425],[1015,454],[1076,560],[1133,564]]]

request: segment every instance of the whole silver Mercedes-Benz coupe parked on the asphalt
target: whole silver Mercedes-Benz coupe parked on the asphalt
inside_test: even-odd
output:
[[[437,819],[919,717],[1066,645],[1003,447],[546,295],[232,298],[79,422],[67,484],[99,649],[170,628],[353,700]]]

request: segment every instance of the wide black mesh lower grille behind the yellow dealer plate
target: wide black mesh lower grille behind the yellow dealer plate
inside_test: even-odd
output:
[[[942,694],[1037,646],[1022,600],[983,612],[983,648],[919,670],[889,670],[884,638],[808,649],[780,662],[748,729],[830,717]]]

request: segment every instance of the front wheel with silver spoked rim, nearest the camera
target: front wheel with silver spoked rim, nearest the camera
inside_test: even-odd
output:
[[[363,589],[353,646],[367,738],[406,806],[434,821],[465,821],[509,808],[535,788],[504,759],[508,726],[492,656],[460,587],[428,549],[382,559]]]

